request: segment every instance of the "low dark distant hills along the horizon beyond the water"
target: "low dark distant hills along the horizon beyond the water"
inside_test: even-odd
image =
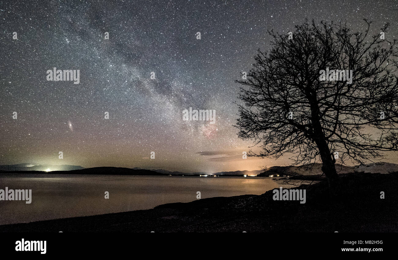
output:
[[[194,172],[186,173],[181,171],[168,171],[165,169],[142,169],[142,168],[124,168],[124,167],[92,167],[84,168],[76,165],[44,165],[39,163],[20,163],[14,165],[0,165],[0,171],[37,171],[37,173],[51,172],[54,174],[65,173],[64,171],[71,171],[70,174],[99,174],[99,175],[222,175],[222,176],[291,176],[291,175],[321,175],[321,163],[311,163],[302,166],[272,166],[267,170],[254,170],[254,171],[220,171],[217,173],[209,172]],[[369,163],[360,166],[345,166],[336,164],[336,171],[338,174],[352,173],[352,172],[365,172],[365,173],[392,173],[398,172],[398,164],[395,163]]]

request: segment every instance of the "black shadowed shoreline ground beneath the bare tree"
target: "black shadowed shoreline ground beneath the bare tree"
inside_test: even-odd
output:
[[[0,232],[398,232],[398,173],[341,176],[329,199],[325,181],[302,185],[306,203],[262,195],[172,203],[150,210],[0,226]],[[380,199],[384,191],[385,199]]]

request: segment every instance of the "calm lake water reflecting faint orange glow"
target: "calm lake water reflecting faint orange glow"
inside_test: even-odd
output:
[[[32,189],[32,202],[0,201],[0,225],[152,209],[194,201],[197,191],[204,199],[259,195],[279,186],[261,177],[4,174],[0,189]]]

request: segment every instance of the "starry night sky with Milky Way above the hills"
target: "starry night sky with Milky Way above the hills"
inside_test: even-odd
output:
[[[187,172],[288,165],[288,157],[242,159],[253,143],[233,127],[235,81],[257,49],[269,49],[267,30],[287,33],[305,18],[353,30],[367,18],[376,33],[390,22],[396,37],[398,2],[2,1],[0,164]],[[47,81],[53,67],[79,69],[80,84]],[[215,124],[182,120],[189,107],[215,110]]]

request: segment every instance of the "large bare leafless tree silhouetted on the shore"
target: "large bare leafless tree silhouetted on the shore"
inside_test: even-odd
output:
[[[271,30],[271,49],[255,56],[240,88],[239,138],[261,148],[249,156],[279,158],[294,165],[322,162],[336,183],[336,160],[363,164],[398,150],[397,46],[380,34],[351,32],[346,24],[321,22],[280,35]],[[384,35],[385,33],[385,35]],[[385,39],[384,39],[385,38]],[[329,69],[329,81],[324,80]],[[332,77],[334,70],[352,70]],[[328,75],[326,75],[326,78]]]

